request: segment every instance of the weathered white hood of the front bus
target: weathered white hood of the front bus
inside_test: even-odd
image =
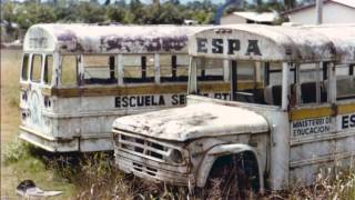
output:
[[[265,118],[254,111],[214,103],[126,116],[116,119],[113,128],[175,141],[268,131]]]

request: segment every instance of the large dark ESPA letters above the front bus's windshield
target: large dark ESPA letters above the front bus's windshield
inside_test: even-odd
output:
[[[234,54],[237,51],[241,51],[241,40],[239,39],[229,39],[227,42],[227,53]],[[223,39],[212,39],[211,44],[205,38],[196,38],[197,52],[207,53],[209,48],[211,48],[212,53],[224,53]],[[247,47],[245,49],[245,56],[262,56],[262,52],[258,47],[258,40],[247,40]]]

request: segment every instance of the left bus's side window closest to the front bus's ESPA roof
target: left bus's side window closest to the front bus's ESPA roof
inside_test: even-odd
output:
[[[189,56],[160,56],[161,81],[187,81]]]

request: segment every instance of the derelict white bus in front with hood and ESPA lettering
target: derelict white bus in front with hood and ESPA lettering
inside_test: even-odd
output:
[[[114,121],[124,172],[204,189],[223,178],[230,196],[308,186],[320,169],[353,162],[355,26],[207,28],[189,53],[186,107]],[[225,99],[201,92],[202,72],[230,74]]]

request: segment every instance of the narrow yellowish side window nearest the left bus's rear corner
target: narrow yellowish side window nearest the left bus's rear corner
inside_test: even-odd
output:
[[[61,82],[63,86],[77,86],[77,56],[63,56],[61,60]]]

